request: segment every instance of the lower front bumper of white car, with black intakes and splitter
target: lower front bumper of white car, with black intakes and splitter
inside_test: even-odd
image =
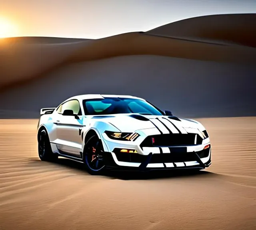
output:
[[[150,153],[148,155],[140,155],[138,153],[122,153],[122,155],[123,157],[120,157],[116,153],[105,152],[106,168],[122,171],[154,171],[205,169],[211,165],[211,148],[206,149],[204,153],[202,151],[190,153],[172,151],[172,153]]]

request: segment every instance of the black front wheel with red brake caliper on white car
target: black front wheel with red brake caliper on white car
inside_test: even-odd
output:
[[[90,174],[99,175],[105,171],[104,149],[96,134],[86,141],[83,156],[86,169]]]

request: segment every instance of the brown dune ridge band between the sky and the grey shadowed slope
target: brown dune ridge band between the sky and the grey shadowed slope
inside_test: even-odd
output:
[[[247,45],[246,42],[242,42],[243,46],[238,46],[233,42],[236,42],[236,38],[240,39],[242,35],[255,40],[253,22],[256,19],[256,14],[214,16],[215,27],[222,28],[221,26],[226,25],[221,30],[225,29],[229,37],[223,36],[223,38],[216,36],[214,31],[213,34],[207,36],[198,32],[198,28],[204,32],[209,31],[209,29],[205,30],[206,27],[211,28],[212,31],[212,23],[210,23],[212,17],[192,18],[171,23],[146,33],[134,32],[97,40],[24,38],[24,42],[21,42],[22,38],[5,39],[0,42],[0,75],[3,76],[0,79],[0,87],[3,89],[6,85],[42,76],[52,69],[68,63],[126,55],[160,55],[254,64],[255,49],[244,46]],[[200,22],[200,26],[198,26],[198,22]],[[177,26],[180,24],[179,28],[184,28],[180,31],[190,28],[186,34],[187,37],[185,32],[177,30]],[[241,24],[246,24],[244,30],[238,30]],[[191,30],[195,32],[198,40],[190,39]],[[172,36],[182,35],[183,40],[168,37],[170,33]],[[220,38],[225,41],[224,44],[220,44],[219,41],[208,42],[205,40]]]

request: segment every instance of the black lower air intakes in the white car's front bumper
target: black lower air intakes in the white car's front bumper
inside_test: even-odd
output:
[[[208,157],[210,148],[196,152],[200,158]],[[147,155],[138,153],[120,153],[120,149],[114,149],[118,161],[143,163],[147,159]],[[196,161],[194,153],[187,152],[172,152],[172,153],[156,153],[152,155],[150,163],[173,163],[173,162],[186,162]]]

